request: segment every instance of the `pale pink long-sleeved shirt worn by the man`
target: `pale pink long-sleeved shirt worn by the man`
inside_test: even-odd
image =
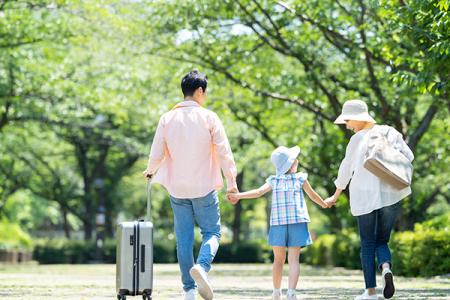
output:
[[[175,198],[199,198],[236,187],[236,165],[217,114],[195,101],[183,101],[161,116],[147,170]]]

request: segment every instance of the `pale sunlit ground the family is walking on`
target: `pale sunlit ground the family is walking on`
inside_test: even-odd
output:
[[[214,299],[271,299],[270,268],[269,264],[214,265],[210,273]],[[153,299],[183,299],[178,265],[155,265],[154,277]],[[450,299],[448,276],[395,280],[394,299]],[[363,285],[360,271],[302,265],[299,299],[353,299]],[[378,285],[381,286],[380,276]],[[284,278],[283,288],[286,287]],[[115,266],[0,265],[0,299],[116,299]]]

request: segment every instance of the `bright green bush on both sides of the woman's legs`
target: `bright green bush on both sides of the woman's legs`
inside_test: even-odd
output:
[[[414,231],[394,233],[389,246],[393,270],[402,276],[433,276],[450,273],[449,214],[416,224]],[[311,265],[360,269],[357,233],[343,230],[324,234],[307,247],[302,261]]]

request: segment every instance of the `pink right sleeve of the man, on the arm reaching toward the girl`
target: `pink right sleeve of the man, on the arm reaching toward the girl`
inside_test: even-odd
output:
[[[231,152],[230,143],[219,117],[214,114],[213,124],[211,126],[212,143],[216,147],[220,167],[227,179],[227,190],[237,192],[236,176],[237,169]]]

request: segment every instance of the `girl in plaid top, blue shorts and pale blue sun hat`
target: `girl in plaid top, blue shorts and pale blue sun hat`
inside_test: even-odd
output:
[[[243,193],[229,194],[231,203],[240,199],[258,198],[272,190],[272,209],[270,213],[269,244],[273,247],[272,299],[281,299],[281,279],[288,248],[289,289],[288,300],[296,300],[295,288],[300,275],[300,249],[312,243],[307,223],[310,221],[302,189],[314,202],[323,208],[327,204],[312,189],[306,173],[297,173],[299,147],[278,147],[271,160],[276,175],[270,176],[258,189]]]

